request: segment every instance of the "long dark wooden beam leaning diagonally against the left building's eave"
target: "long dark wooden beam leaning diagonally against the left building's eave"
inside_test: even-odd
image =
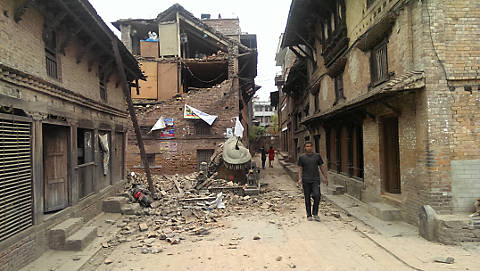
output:
[[[122,86],[123,94],[125,95],[125,99],[127,100],[128,112],[130,113],[130,118],[132,119],[133,128],[135,129],[135,135],[137,137],[138,148],[140,149],[140,157],[143,162],[145,173],[147,174],[148,190],[150,190],[150,192],[154,194],[155,189],[153,187],[152,176],[150,175],[150,165],[148,164],[147,155],[145,154],[145,146],[143,145],[142,134],[140,133],[140,127],[138,126],[137,115],[135,114],[135,108],[133,107],[132,96],[130,93],[127,76],[125,75],[122,57],[120,56],[120,50],[118,49],[118,41],[116,41],[115,39],[112,39],[112,47],[115,53],[115,61],[117,63],[118,74],[120,75],[120,80],[122,82],[120,85]]]

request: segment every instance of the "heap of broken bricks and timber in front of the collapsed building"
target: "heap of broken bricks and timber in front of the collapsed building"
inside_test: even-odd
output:
[[[220,218],[295,210],[292,204],[295,196],[284,191],[270,191],[264,185],[260,195],[244,196],[240,193],[241,186],[223,179],[208,178],[199,185],[198,174],[154,175],[153,194],[147,189],[144,174],[129,175],[121,194],[127,198],[127,207],[122,213],[128,216],[117,224],[118,234],[104,247],[131,242],[130,247],[138,248],[141,253],[160,253],[162,243],[175,245],[186,239],[199,241],[212,229],[225,227],[219,222]]]

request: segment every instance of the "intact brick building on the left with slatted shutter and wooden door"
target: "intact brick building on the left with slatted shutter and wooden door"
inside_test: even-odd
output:
[[[86,0],[0,9],[0,270],[18,270],[52,227],[81,226],[125,179],[127,82],[113,47],[128,81],[143,75]]]

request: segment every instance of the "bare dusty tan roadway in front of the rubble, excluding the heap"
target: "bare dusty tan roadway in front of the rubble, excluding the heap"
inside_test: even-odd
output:
[[[330,204],[322,202],[321,222],[307,221],[300,191],[278,164],[264,170],[262,180],[267,192],[261,197],[271,200],[270,208],[228,210],[226,202],[231,215],[211,223],[208,234],[183,235],[176,245],[137,231],[101,250],[83,270],[412,270]]]

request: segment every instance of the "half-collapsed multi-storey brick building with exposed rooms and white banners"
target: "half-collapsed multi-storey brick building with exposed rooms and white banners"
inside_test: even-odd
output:
[[[242,34],[238,19],[204,17],[195,18],[175,4],[155,19],[113,23],[147,76],[132,88],[132,98],[152,172],[196,170],[233,135],[237,118],[246,139],[251,119],[247,109],[259,89],[254,82],[256,36]],[[207,123],[190,108],[216,118]],[[152,130],[160,118],[165,128]],[[142,170],[133,137],[127,167]]]

